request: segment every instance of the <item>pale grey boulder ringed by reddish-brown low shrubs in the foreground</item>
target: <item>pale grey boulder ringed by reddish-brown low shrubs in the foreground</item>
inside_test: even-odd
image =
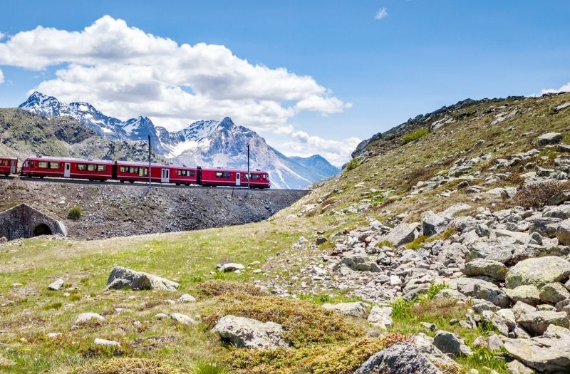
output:
[[[283,326],[252,318],[225,316],[219,318],[212,331],[239,348],[269,349],[289,346],[281,338]]]

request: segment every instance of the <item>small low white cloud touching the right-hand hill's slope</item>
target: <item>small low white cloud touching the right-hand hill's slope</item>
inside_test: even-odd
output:
[[[286,155],[307,157],[318,153],[331,164],[339,167],[351,159],[351,152],[361,142],[358,137],[348,137],[342,141],[326,140],[318,136],[309,135],[304,131],[296,131],[291,134],[291,137],[294,141],[284,142],[279,145],[279,150]]]

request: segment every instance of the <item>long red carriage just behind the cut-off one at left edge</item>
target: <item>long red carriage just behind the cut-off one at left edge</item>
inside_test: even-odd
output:
[[[83,180],[110,180],[113,162],[105,160],[78,160],[68,157],[29,157],[20,174],[24,177],[58,177]]]

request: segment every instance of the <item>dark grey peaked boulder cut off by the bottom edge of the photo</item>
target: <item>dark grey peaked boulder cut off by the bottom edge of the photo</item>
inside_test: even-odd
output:
[[[368,358],[354,374],[442,374],[412,343],[395,343]]]

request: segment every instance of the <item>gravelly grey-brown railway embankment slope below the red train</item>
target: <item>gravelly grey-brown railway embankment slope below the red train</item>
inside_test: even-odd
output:
[[[65,222],[72,239],[103,239],[259,222],[307,192],[3,177],[0,210],[26,203]]]

